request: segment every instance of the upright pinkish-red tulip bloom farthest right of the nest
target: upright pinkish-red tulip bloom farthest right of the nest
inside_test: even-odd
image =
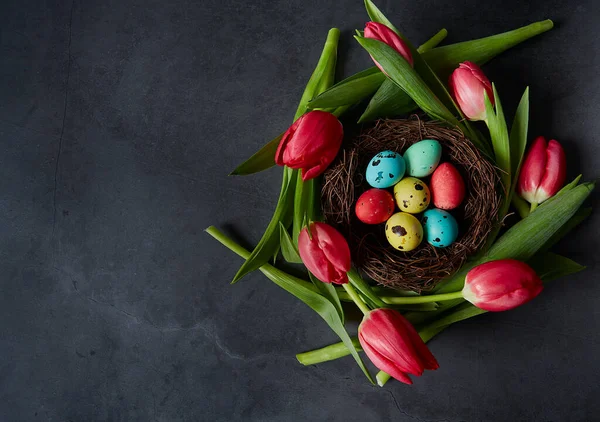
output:
[[[527,202],[539,204],[553,196],[565,183],[567,159],[558,142],[539,136],[523,162],[517,192]]]

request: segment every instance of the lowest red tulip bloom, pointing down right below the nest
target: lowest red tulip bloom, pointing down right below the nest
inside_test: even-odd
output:
[[[412,384],[407,374],[421,376],[439,365],[414,327],[400,312],[375,309],[358,327],[358,340],[373,364],[398,381]]]

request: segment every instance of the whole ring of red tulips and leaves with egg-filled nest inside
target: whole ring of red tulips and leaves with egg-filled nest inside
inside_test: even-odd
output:
[[[292,125],[231,173],[283,167],[261,239],[248,251],[216,227],[206,231],[244,259],[232,284],[259,270],[341,340],[297,354],[301,364],[351,355],[383,386],[437,369],[426,343],[452,324],[521,306],[543,283],[582,271],[550,249],[590,215],[583,204],[595,183],[580,175],[564,184],[556,140],[538,137],[527,151],[529,88],[507,120],[479,68],[551,20],[437,48],[443,29],[417,48],[371,0],[365,6],[371,21],[354,38],[375,66],[334,84],[340,31],[332,28]],[[428,120],[378,120],[344,144],[346,112],[369,98],[359,124],[415,112]],[[431,189],[419,179],[430,176]],[[392,186],[393,197],[383,190]],[[507,220],[511,207],[518,217]],[[304,275],[284,271],[283,260],[303,263]],[[358,336],[342,302],[364,315]]]

